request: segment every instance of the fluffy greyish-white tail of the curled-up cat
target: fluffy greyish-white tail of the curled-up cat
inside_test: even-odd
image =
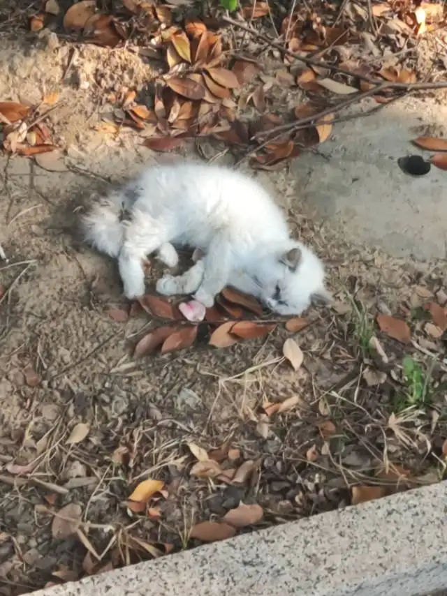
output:
[[[117,257],[124,240],[122,216],[129,207],[122,193],[111,193],[95,202],[82,216],[82,236],[101,253]]]

